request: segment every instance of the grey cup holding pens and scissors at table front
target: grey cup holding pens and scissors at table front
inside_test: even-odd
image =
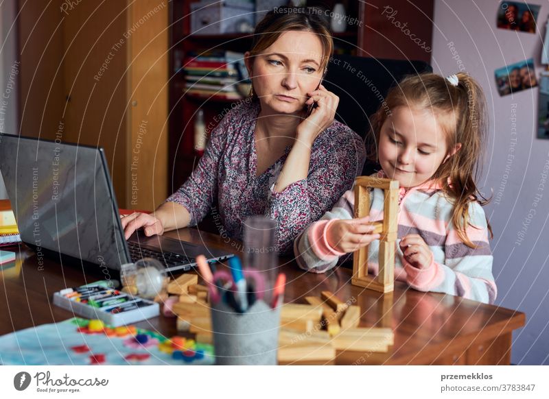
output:
[[[280,309],[257,300],[246,313],[220,301],[212,304],[211,325],[215,364],[276,365]]]

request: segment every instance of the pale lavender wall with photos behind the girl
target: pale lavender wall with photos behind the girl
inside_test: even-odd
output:
[[[496,28],[498,8],[494,0],[435,0],[432,66],[436,73],[450,75],[458,71],[459,58],[484,88],[490,140],[480,186],[485,194],[493,190],[493,198],[499,197],[485,208],[494,232],[496,303],[526,313],[526,327],[513,334],[512,362],[547,365],[549,179],[544,182],[541,174],[549,165],[549,140],[535,138],[539,89],[500,97],[493,71],[527,58],[534,58],[538,75],[544,69],[539,61],[549,2],[543,1],[537,19],[541,34],[535,35]],[[530,209],[533,217],[528,217]],[[524,241],[518,234],[524,234]]]

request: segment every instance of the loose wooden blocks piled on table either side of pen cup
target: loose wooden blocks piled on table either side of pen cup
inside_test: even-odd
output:
[[[184,274],[170,282],[167,292],[179,295],[172,305],[178,331],[194,333],[196,341],[213,343],[207,288],[198,276]],[[333,361],[336,350],[386,352],[393,345],[390,328],[360,328],[360,306],[342,302],[333,293],[309,296],[307,304],[284,304],[281,309],[279,363]]]

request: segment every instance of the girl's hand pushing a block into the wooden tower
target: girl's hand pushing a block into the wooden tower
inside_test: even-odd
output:
[[[334,221],[326,232],[328,244],[338,252],[355,252],[379,239],[379,234],[373,234],[374,226],[370,217]]]

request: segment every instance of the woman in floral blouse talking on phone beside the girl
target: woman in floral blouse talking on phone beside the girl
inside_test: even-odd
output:
[[[217,199],[231,237],[243,239],[246,217],[265,215],[284,253],[351,187],[364,144],[334,121],[339,99],[321,84],[333,42],[320,14],[277,8],[257,25],[245,55],[250,101],[220,121],[189,180],[154,215],[122,219],[126,238],[195,226]]]

